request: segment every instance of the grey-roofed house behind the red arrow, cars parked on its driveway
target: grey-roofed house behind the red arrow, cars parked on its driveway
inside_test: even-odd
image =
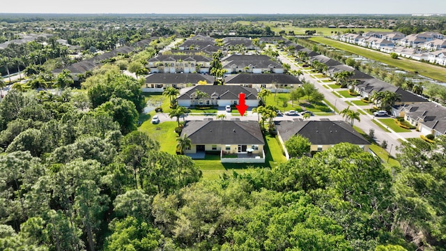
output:
[[[197,91],[206,93],[206,97],[197,97]],[[216,105],[225,107],[226,105],[238,105],[238,94],[245,94],[245,104],[249,107],[257,107],[256,89],[236,86],[236,85],[197,85],[178,96],[178,105],[192,107],[194,105]]]

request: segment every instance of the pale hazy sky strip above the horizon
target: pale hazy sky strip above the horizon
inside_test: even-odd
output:
[[[2,0],[6,1],[6,0]],[[17,0],[0,13],[426,14],[446,0]]]

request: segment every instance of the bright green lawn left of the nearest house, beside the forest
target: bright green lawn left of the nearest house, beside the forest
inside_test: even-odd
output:
[[[178,124],[172,121],[153,124],[148,120],[142,123],[138,130],[146,132],[151,139],[160,142],[161,151],[176,154],[176,138],[178,137],[176,132],[174,132],[176,126],[178,126]]]

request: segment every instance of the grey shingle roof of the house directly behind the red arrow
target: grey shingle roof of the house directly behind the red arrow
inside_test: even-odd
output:
[[[197,90],[208,93],[209,96],[217,95],[218,98],[222,99],[232,100],[234,97],[238,98],[238,93],[245,93],[245,99],[247,100],[257,99],[257,91],[254,88],[229,85],[197,85],[183,95],[179,96],[178,100],[190,100],[191,98],[194,98],[192,94]]]

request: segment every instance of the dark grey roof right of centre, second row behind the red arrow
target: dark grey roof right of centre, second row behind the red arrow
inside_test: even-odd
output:
[[[226,84],[301,84],[300,80],[289,74],[252,74],[242,73],[224,78]]]

